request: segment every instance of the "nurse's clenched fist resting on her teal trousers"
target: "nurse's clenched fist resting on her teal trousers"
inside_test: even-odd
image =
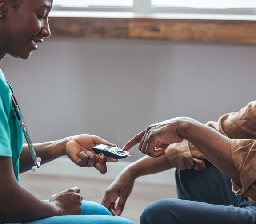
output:
[[[83,197],[79,194],[80,189],[73,187],[52,195],[50,202],[60,209],[60,215],[79,215],[82,212]]]

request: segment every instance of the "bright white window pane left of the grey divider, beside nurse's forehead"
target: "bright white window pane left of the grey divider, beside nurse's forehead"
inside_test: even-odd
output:
[[[53,6],[66,7],[132,7],[133,0],[54,0]]]

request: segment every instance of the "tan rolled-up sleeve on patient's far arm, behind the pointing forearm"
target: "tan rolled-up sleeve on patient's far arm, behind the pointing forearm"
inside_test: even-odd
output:
[[[206,123],[230,139],[256,139],[256,101],[250,102],[239,112],[228,113]],[[204,170],[206,160],[196,147],[184,140],[166,149],[168,161],[177,169]]]

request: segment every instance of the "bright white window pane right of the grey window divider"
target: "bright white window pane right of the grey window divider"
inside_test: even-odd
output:
[[[256,0],[151,0],[153,7],[175,8],[256,8]]]

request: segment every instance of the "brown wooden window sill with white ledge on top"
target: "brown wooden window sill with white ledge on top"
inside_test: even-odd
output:
[[[208,15],[209,16],[209,15]],[[256,43],[256,16],[52,12],[53,37]]]

